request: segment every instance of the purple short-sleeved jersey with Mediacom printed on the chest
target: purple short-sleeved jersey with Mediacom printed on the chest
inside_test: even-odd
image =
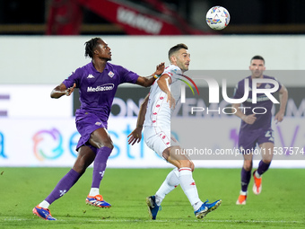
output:
[[[75,83],[76,88],[79,88],[81,108],[76,111],[76,116],[77,112],[91,111],[103,121],[107,121],[118,85],[135,84],[138,76],[123,66],[109,63],[106,63],[104,71],[100,73],[91,62],[77,68],[72,75],[65,79],[63,84],[69,88]]]

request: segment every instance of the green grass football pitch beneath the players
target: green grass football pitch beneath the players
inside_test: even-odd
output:
[[[222,205],[196,219],[180,187],[163,200],[157,220],[149,218],[145,198],[153,195],[170,169],[107,169],[100,194],[112,207],[85,205],[92,168],[49,208],[57,221],[32,215],[70,168],[0,168],[0,228],[305,228],[305,170],[273,169],[263,176],[262,193],[249,184],[246,206],[236,206],[240,169],[196,169],[199,197]]]

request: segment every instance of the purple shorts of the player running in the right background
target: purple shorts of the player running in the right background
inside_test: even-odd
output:
[[[251,130],[240,129],[239,148],[254,150],[257,145],[266,142],[274,143],[274,131],[272,128]]]

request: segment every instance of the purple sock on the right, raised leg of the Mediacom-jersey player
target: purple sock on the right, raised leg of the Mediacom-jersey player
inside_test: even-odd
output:
[[[103,179],[111,151],[112,149],[107,146],[101,147],[97,150],[93,163],[92,188],[100,188],[100,181]]]

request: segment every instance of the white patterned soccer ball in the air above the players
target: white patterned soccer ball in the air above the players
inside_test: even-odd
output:
[[[230,22],[230,14],[226,8],[222,6],[213,6],[206,13],[206,23],[211,29],[220,31],[227,27]]]

